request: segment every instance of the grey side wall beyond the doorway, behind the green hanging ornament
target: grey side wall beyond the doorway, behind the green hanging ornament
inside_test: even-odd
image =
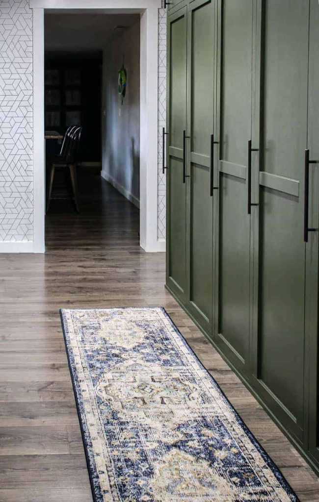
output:
[[[126,96],[118,91],[124,62]],[[105,45],[102,85],[102,176],[140,203],[140,21]]]

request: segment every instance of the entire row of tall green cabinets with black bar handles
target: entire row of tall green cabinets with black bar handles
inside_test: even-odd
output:
[[[168,5],[166,287],[319,473],[318,0]]]

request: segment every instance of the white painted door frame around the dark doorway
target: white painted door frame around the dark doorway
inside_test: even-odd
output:
[[[33,253],[44,253],[44,10],[102,9],[105,13],[141,13],[140,96],[140,245],[164,251],[157,238],[158,9],[161,0],[30,0],[33,9]]]

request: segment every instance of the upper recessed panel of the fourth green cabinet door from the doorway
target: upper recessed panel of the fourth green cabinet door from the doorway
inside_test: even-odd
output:
[[[294,179],[305,148],[307,19],[308,0],[265,3],[264,167]]]

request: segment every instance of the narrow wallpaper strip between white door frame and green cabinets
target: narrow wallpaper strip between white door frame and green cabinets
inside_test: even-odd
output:
[[[166,126],[166,10],[158,11],[158,165],[157,165],[157,238],[165,239],[166,175],[163,175],[162,129]],[[166,136],[167,138],[167,136]]]

